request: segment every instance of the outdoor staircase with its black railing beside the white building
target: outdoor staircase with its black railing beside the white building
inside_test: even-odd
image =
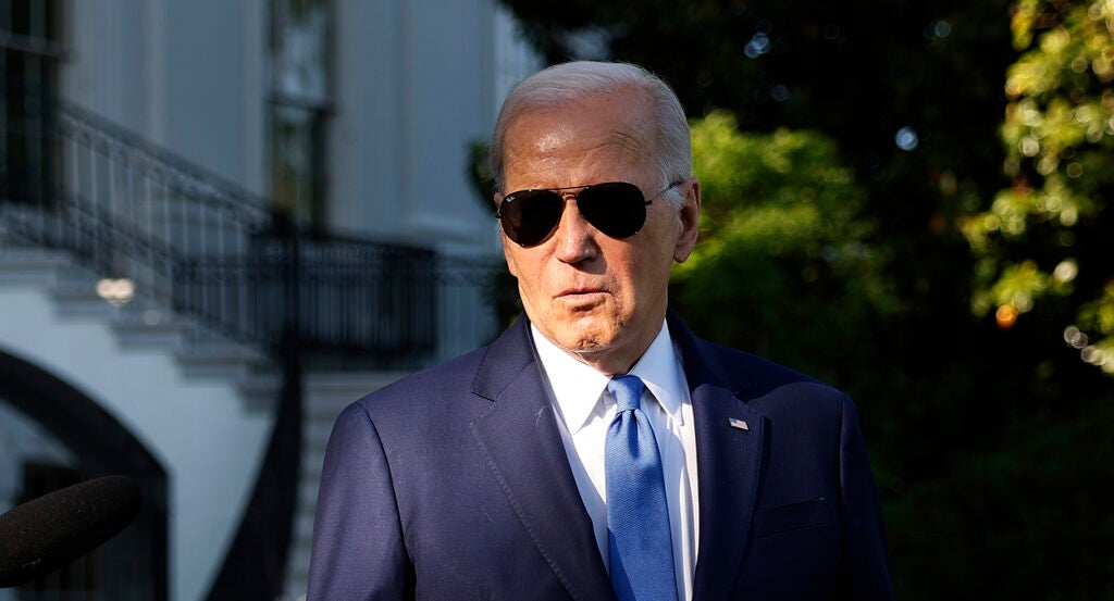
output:
[[[491,263],[307,236],[265,199],[94,115],[51,115],[30,184],[0,196],[0,290],[36,290],[58,319],[106,324],[120,353],[169,357],[187,383],[233,388],[261,415],[276,411],[285,354],[297,353],[301,457],[264,469],[299,473],[296,487],[267,494],[294,500],[293,516],[271,518],[292,523],[282,589],[301,598],[334,417],[482,344],[496,325],[482,297]]]

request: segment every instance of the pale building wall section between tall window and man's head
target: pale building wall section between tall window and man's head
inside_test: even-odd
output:
[[[468,177],[468,145],[487,141],[525,55],[492,0],[336,2],[335,176],[331,224],[431,244],[449,254],[498,253],[491,213]]]

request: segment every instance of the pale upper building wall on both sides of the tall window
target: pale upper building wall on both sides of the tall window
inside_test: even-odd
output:
[[[266,193],[266,0],[68,4],[62,96]],[[468,179],[510,86],[538,67],[495,0],[335,0],[329,225],[497,253]]]

